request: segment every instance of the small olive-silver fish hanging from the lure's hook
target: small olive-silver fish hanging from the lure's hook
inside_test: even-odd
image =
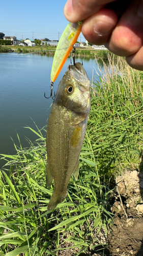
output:
[[[48,118],[46,183],[50,186],[54,180],[54,190],[47,210],[64,201],[72,174],[78,178],[90,109],[90,80],[82,64],[76,62],[61,79]]]

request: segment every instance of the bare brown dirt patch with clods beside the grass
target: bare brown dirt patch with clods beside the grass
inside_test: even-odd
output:
[[[116,202],[112,206],[114,224],[108,236],[112,256],[143,255],[143,175],[137,170],[116,179]]]

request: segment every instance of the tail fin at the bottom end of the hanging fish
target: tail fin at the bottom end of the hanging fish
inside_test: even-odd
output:
[[[53,191],[53,194],[52,194],[51,199],[50,199],[50,201],[49,201],[47,210],[52,210],[52,209],[54,209],[58,204],[62,203],[62,202],[65,200],[67,194],[68,194],[68,190],[64,190],[64,191],[62,191],[62,193],[60,193],[60,194],[56,194],[56,193],[54,193],[54,191]]]

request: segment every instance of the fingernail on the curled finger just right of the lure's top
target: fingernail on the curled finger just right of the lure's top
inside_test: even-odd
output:
[[[111,32],[111,30],[115,27],[111,23],[105,23],[101,20],[94,20],[94,32],[99,36],[105,36]]]

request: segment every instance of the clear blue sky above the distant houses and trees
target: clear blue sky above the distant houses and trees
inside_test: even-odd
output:
[[[1,2],[0,32],[18,39],[59,40],[68,21],[66,0],[7,0]],[[79,38],[80,40],[80,38]],[[85,41],[81,34],[81,41]]]

